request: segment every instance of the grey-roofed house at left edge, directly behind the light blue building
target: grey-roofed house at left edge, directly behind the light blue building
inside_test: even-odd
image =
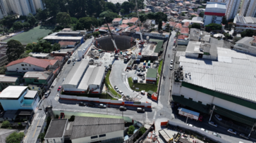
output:
[[[20,76],[7,76],[5,74],[0,74],[0,91],[4,90],[8,86],[19,86]]]

